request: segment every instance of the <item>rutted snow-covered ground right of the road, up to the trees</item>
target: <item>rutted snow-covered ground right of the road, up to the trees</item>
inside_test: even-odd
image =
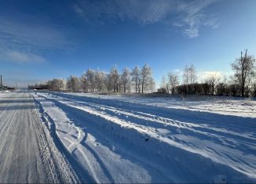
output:
[[[82,182],[256,182],[255,101],[31,94]]]

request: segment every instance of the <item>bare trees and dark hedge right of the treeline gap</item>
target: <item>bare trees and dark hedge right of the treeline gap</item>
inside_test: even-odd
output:
[[[177,95],[199,96],[256,96],[256,66],[254,56],[249,55],[247,49],[240,53],[231,64],[234,74],[227,78],[210,74],[207,79],[197,82],[196,70],[193,64],[185,66],[182,74],[182,82],[178,74],[167,74],[167,80],[163,77],[159,93],[171,93]]]

